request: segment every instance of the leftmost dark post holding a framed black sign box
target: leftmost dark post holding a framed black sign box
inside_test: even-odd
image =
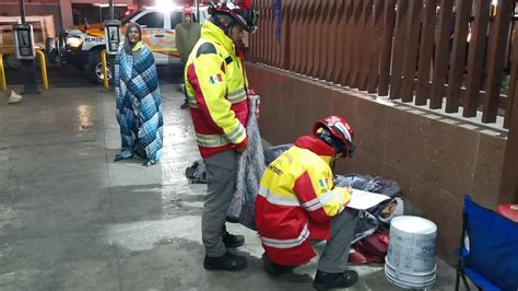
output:
[[[34,67],[34,34],[33,27],[25,24],[25,2],[20,0],[22,24],[13,25],[15,56],[22,61],[23,90],[25,94],[38,93],[36,84],[36,68]]]

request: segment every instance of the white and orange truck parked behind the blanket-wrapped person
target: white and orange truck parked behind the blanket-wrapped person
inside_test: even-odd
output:
[[[151,48],[157,66],[179,62],[175,45],[175,26],[181,22],[184,7],[168,9],[145,8],[121,20],[122,34],[128,23],[134,22],[142,27],[142,40]],[[192,8],[192,11],[196,9]],[[207,7],[200,7],[200,23],[209,18]],[[196,21],[196,15],[195,15]],[[85,69],[89,77],[103,83],[101,51],[106,48],[103,24],[74,26],[59,34],[54,42],[47,42],[47,54],[55,62],[70,63]],[[108,63],[108,68],[111,63]],[[111,79],[108,70],[108,79]]]

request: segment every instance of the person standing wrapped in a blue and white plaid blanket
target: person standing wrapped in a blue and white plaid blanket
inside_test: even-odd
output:
[[[162,97],[155,59],[142,43],[136,23],[115,58],[116,116],[120,126],[121,152],[115,162],[139,155],[149,166],[160,161],[163,142]]]

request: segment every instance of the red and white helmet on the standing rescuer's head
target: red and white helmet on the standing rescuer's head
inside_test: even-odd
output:
[[[209,13],[222,13],[233,18],[239,26],[249,33],[257,31],[259,12],[251,5],[251,0],[211,0]]]

